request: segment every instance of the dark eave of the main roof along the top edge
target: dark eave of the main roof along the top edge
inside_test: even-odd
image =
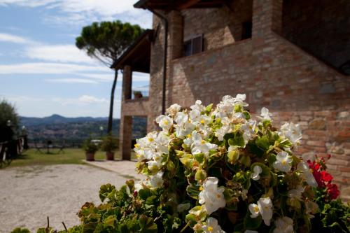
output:
[[[152,10],[184,10],[188,8],[218,8],[232,0],[139,0],[134,4],[135,8]]]

